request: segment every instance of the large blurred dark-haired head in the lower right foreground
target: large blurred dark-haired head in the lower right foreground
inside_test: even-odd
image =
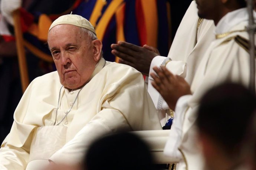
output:
[[[255,110],[255,94],[242,85],[226,83],[206,92],[197,118],[206,169],[250,169],[246,162],[253,156],[244,156],[243,141]],[[251,137],[255,138],[255,134]]]

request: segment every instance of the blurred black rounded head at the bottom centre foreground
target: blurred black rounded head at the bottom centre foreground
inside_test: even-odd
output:
[[[102,137],[89,147],[86,170],[152,170],[148,146],[132,133]]]

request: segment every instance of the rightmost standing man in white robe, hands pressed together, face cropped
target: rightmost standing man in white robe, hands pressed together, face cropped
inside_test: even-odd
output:
[[[168,140],[165,151],[173,154],[173,148],[178,147],[186,163],[183,169],[200,170],[203,169],[203,159],[197,146],[195,129],[198,104],[204,92],[221,82],[232,81],[249,86],[249,38],[246,32],[249,16],[244,0],[196,2],[198,16],[213,19],[216,40],[201,59],[191,88],[183,78],[165,67],[155,67],[158,77],[155,74],[151,76],[155,80],[153,86],[181,118],[180,130],[177,131],[179,140]],[[253,14],[256,17],[256,13]]]

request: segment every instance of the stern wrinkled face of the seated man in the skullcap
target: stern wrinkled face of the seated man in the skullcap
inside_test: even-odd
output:
[[[88,35],[82,34],[79,27],[61,24],[49,31],[48,45],[60,83],[69,89],[84,85],[99,60],[95,58],[93,41]]]

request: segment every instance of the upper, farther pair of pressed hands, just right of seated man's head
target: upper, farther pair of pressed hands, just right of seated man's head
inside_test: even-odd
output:
[[[120,58],[119,63],[130,65],[144,75],[148,75],[152,59],[160,55],[156,48],[149,45],[139,47],[124,41],[111,44],[111,48],[112,54]]]

